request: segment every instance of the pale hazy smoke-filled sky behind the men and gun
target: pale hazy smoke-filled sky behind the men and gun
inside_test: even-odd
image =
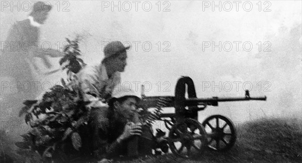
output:
[[[50,3],[55,6],[55,2]],[[150,12],[141,9],[138,12],[134,9],[112,12],[110,8],[102,11],[101,1],[69,3],[69,12],[52,10],[49,13],[41,27],[40,41],[50,42],[55,49],[56,43],[63,43],[64,38],[73,39],[75,34],[82,34],[86,37],[80,49],[88,64],[101,62],[104,42],[131,43],[122,81],[152,83],[152,89],[145,95],[174,95],[180,76],[193,79],[197,97],[242,97],[245,93],[243,83],[250,82],[253,86],[251,96],[266,95],[267,101],[219,103],[218,107],[210,106],[199,112],[199,120],[202,122],[212,114],[226,115],[234,122],[265,116],[301,119],[301,1],[271,1],[270,12],[259,12],[256,2],[253,2],[251,12],[242,8],[238,12],[235,9],[213,12],[211,8],[203,11],[201,1],[170,1],[170,12],[158,12],[156,2],[152,2]],[[13,24],[26,19],[28,14],[24,11],[1,12],[1,41],[6,40]],[[233,49],[220,52],[219,48],[214,51],[212,47],[204,48],[205,42],[218,45],[219,41],[221,44],[231,42]],[[234,41],[241,42],[238,51]],[[135,42],[140,43],[135,46]],[[144,42],[152,44],[149,52],[143,50]],[[251,51],[242,48],[244,42],[252,43]],[[257,45],[259,42],[261,50]],[[265,52],[265,48],[271,51]],[[51,61],[54,65],[51,70],[59,68],[58,59]],[[37,59],[37,62],[40,61]],[[39,64],[43,68],[42,63]],[[48,71],[50,69],[42,69],[44,73]],[[36,73],[37,81],[41,83],[57,83],[66,77],[64,72],[42,74]],[[219,82],[220,88],[224,83],[222,88],[226,89],[219,91],[218,87],[212,87],[213,83],[219,85]],[[229,90],[229,82],[233,88],[225,91]],[[241,82],[238,90],[234,82]],[[206,83],[211,86],[205,87]],[[11,113],[14,116],[8,116],[6,110],[1,110],[1,121],[17,118],[18,112],[18,108],[14,108]]]

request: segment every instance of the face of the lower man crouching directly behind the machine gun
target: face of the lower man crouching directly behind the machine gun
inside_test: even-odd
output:
[[[128,97],[125,101],[119,103],[118,112],[125,118],[132,119],[137,112],[137,101],[134,97]]]

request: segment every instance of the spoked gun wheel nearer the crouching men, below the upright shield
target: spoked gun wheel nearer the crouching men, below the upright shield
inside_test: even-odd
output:
[[[168,143],[175,155],[189,158],[193,151],[201,153],[206,147],[206,132],[197,120],[186,118],[171,128]]]

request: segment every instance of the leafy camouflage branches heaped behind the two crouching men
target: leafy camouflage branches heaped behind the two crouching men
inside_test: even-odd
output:
[[[78,58],[79,37],[74,41],[66,39],[69,43],[64,47],[64,57],[59,61],[62,70],[67,70],[68,83],[62,79],[62,86],[55,85],[45,92],[41,100],[27,100],[19,116],[25,114],[25,122],[30,130],[21,135],[22,142],[16,142],[20,149],[37,151],[43,158],[51,158],[55,150],[60,150],[68,137],[74,149],[82,146],[78,128],[87,124],[90,108],[85,107],[89,102],[84,101],[83,92],[76,76],[86,64]]]

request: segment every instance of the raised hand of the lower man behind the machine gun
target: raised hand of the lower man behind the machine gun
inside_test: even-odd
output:
[[[120,140],[125,140],[133,135],[141,135],[141,123],[128,122],[124,127],[124,132],[119,137]]]

